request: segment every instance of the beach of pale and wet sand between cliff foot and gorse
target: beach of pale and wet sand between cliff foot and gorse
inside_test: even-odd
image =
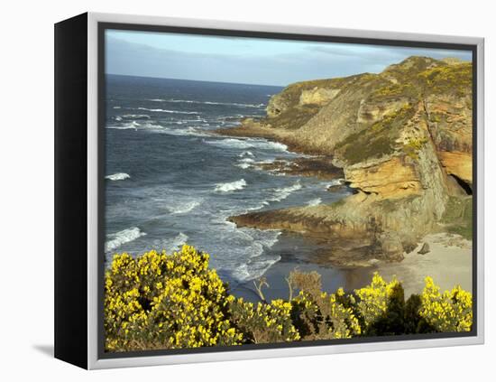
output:
[[[354,289],[370,284],[374,272],[379,272],[387,281],[396,275],[403,284],[405,296],[421,293],[427,275],[433,277],[442,291],[460,284],[464,290],[472,292],[472,243],[457,235],[445,233],[427,235],[420,241],[418,247],[411,253],[405,254],[405,259],[399,263],[378,261],[374,266],[350,269],[311,261],[312,256],[308,256],[310,255],[308,250],[310,247],[315,250],[315,243],[310,245],[306,238],[283,234],[280,243],[282,240],[285,240],[284,251],[278,252],[278,245],[272,248],[274,252],[280,254],[280,261],[271,266],[264,275],[270,285],[263,288],[268,301],[288,298],[289,289],[285,278],[295,268],[302,272],[317,271],[321,275],[322,289],[327,292],[335,292],[341,286],[345,291],[353,292]],[[423,243],[428,243],[430,251],[420,255],[418,251]],[[289,250],[290,248],[293,250]],[[249,301],[260,301],[253,281],[233,286],[232,293]]]

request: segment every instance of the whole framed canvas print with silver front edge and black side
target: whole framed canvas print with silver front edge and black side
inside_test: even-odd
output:
[[[483,341],[483,40],[55,26],[55,356]]]

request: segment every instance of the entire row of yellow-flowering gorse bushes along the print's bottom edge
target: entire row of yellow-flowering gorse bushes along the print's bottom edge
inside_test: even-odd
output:
[[[400,282],[372,283],[354,293],[322,292],[316,272],[293,271],[288,300],[250,303],[228,293],[209,256],[194,247],[166,255],[115,255],[106,271],[107,351],[179,349],[332,340],[439,331],[470,331],[472,295],[440,293],[430,277],[405,302]],[[257,290],[262,294],[262,284]],[[298,292],[298,293],[297,293]],[[297,293],[293,296],[293,293]]]

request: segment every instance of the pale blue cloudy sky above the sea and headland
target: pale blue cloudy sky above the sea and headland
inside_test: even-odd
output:
[[[106,30],[106,73],[140,77],[286,86],[379,73],[413,55],[472,60],[471,51]]]

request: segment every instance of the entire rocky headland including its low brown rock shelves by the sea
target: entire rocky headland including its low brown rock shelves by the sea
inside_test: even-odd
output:
[[[265,118],[225,134],[265,136],[325,155],[355,194],[233,221],[328,240],[346,249],[329,254],[335,263],[399,260],[421,236],[462,224],[445,216],[448,203],[458,205],[453,198],[471,200],[472,106],[472,64],[452,59],[410,57],[379,74],[289,85],[271,98]]]

